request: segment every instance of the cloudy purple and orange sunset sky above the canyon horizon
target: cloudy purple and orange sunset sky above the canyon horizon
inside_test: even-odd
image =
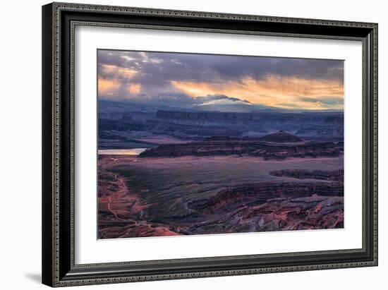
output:
[[[99,50],[100,99],[140,103],[344,108],[344,62]],[[235,106],[236,107],[236,106]]]

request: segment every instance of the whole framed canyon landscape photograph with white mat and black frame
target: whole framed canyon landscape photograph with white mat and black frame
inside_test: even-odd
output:
[[[42,7],[42,282],[377,265],[377,24]]]

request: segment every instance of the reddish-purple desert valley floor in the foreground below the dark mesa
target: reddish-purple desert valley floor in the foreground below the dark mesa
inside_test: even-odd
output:
[[[342,153],[281,160],[99,155],[98,163],[99,238],[344,226]]]

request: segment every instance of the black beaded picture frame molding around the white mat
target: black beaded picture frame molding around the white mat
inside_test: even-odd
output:
[[[358,40],[363,43],[363,248],[74,262],[74,30],[77,25]],[[377,23],[53,3],[42,6],[42,283],[75,286],[377,265]]]

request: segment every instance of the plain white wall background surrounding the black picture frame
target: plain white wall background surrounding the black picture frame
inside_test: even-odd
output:
[[[81,1],[81,0],[80,0]],[[6,1],[1,5],[0,47],[0,287],[44,289],[41,246],[41,5],[47,1]],[[388,18],[384,1],[178,1],[84,0],[83,3],[171,8],[269,16],[379,23],[380,82],[380,265],[379,267],[186,279],[82,289],[386,289],[388,250]],[[385,286],[386,287],[386,286]],[[80,287],[76,287],[81,289]],[[75,288],[73,288],[75,289]]]

